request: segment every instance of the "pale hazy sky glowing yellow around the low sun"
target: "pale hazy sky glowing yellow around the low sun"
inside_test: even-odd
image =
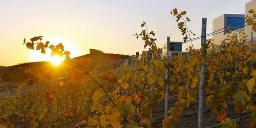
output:
[[[47,60],[49,55],[29,50],[24,38],[44,36],[44,42],[62,42],[71,57],[99,49],[104,53],[135,54],[143,51],[143,41],[133,34],[140,32],[142,20],[155,31],[157,45],[166,36],[181,41],[175,18],[170,10],[186,10],[188,24],[196,36],[201,34],[201,18],[207,18],[207,33],[212,32],[212,19],[223,13],[245,13],[250,0],[186,1],[48,1],[0,0],[0,66]],[[195,36],[195,37],[196,37]],[[194,45],[199,48],[200,40]],[[183,45],[186,48],[187,45]]]

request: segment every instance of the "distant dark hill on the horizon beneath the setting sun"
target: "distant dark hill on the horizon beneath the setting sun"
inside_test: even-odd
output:
[[[129,58],[129,55],[120,55],[113,53],[103,53],[99,50],[90,49],[90,54],[78,56],[72,58],[71,61],[82,58],[91,58],[92,60],[92,68],[101,63],[101,65],[106,65],[108,63]],[[68,71],[68,67],[66,65],[62,66],[54,66],[49,61],[39,61],[39,62],[28,62],[22,63],[19,65],[9,66],[9,67],[1,67],[0,68],[0,90],[1,92],[7,91],[7,87],[9,89],[16,88],[16,86],[30,78],[25,73],[26,69],[31,69],[36,74],[42,74],[42,76],[46,79],[54,79],[62,76],[66,76],[70,74]]]

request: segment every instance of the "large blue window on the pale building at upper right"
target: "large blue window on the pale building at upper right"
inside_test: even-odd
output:
[[[244,17],[227,17],[226,18],[226,26],[231,26],[231,28],[226,28],[225,31],[228,31],[228,30],[231,30],[231,31],[234,31],[234,30],[238,30],[238,29],[242,29],[244,28],[244,23],[245,22],[245,19]]]

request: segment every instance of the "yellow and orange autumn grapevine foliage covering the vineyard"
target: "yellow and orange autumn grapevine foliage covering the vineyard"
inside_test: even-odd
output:
[[[250,10],[250,13],[255,18],[254,10]],[[190,22],[188,17],[184,18],[186,11],[179,13],[173,9],[171,14],[176,16],[178,28],[186,42],[191,34],[194,35],[186,26]],[[179,22],[181,19],[182,22]],[[255,23],[251,16],[247,16],[247,19],[253,20],[247,24]],[[255,31],[255,24],[251,26]],[[28,93],[22,92],[30,80],[34,84],[46,81],[40,75],[32,75],[20,84],[14,95],[1,97],[1,125],[12,127],[18,121],[19,125],[31,127],[151,127],[152,111],[157,107],[155,103],[163,100],[165,84],[168,83],[170,93],[177,96],[171,98],[174,104],[168,110],[168,117],[162,120],[162,126],[176,127],[184,111],[198,103],[203,55],[206,56],[205,105],[216,117],[216,123],[231,120],[226,112],[228,106],[233,106],[240,117],[256,112],[256,70],[251,65],[251,61],[255,61],[256,42],[253,42],[251,52],[242,29],[238,35],[227,33],[219,46],[208,39],[206,45],[202,46],[205,50],[189,47],[186,53],[161,58],[155,32],[149,32],[145,22],[141,27],[145,29],[134,36],[144,41],[144,48],[148,48],[148,51],[144,51],[140,57],[132,56],[132,67],[123,65],[119,71],[98,74],[97,70],[91,69],[89,58],[77,60],[69,64],[72,75],[66,81],[48,82],[33,87]],[[34,44],[37,40],[41,40],[41,36],[32,38],[31,42],[26,43],[27,47],[34,49],[34,45],[37,45],[36,50],[41,50],[41,53],[45,53],[45,48],[50,48],[52,54],[69,55],[61,44]],[[169,71],[168,79],[165,79],[165,68]],[[122,94],[123,89],[126,92]],[[11,117],[18,117],[18,120],[14,121]],[[255,118],[255,115],[251,116],[248,127],[256,126]],[[237,125],[237,121],[231,121],[222,127]]]

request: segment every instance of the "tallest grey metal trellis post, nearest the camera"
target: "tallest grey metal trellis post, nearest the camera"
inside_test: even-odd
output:
[[[202,33],[201,33],[201,45],[205,45],[206,41],[206,20],[207,18],[202,18]],[[201,49],[204,47],[201,46]],[[203,55],[203,63],[201,65],[200,74],[200,85],[199,85],[199,103],[198,103],[198,128],[203,127],[203,104],[204,104],[204,68],[205,68],[205,56]]]

